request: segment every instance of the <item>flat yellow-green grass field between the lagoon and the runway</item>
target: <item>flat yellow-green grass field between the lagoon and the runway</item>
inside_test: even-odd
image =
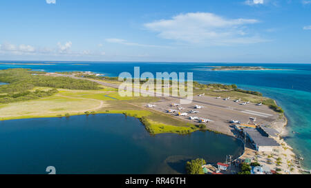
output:
[[[33,90],[49,90],[48,87],[35,87]],[[144,103],[158,101],[156,97],[121,97],[117,90],[105,87],[102,90],[63,90],[54,96],[37,100],[0,105],[0,120],[20,118],[62,117],[83,114],[124,114],[142,118],[151,134],[187,134],[197,128],[167,114],[151,112]],[[115,99],[114,99],[115,98]]]

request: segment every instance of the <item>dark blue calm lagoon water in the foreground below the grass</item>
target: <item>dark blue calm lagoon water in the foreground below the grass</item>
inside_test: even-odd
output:
[[[0,122],[0,174],[171,174],[185,162],[243,153],[241,140],[211,132],[150,136],[122,114]]]

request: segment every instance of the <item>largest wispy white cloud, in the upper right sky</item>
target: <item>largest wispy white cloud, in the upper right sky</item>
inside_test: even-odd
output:
[[[265,41],[250,35],[246,25],[258,23],[256,19],[225,19],[208,12],[178,14],[171,19],[146,23],[144,26],[158,32],[163,39],[204,43],[206,45],[229,45],[232,43],[258,43]],[[124,41],[115,42],[123,43]]]

